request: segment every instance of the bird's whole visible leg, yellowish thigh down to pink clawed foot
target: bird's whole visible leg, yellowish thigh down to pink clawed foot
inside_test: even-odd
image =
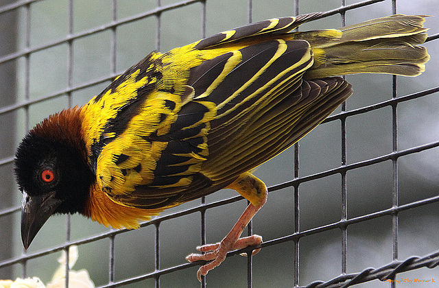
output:
[[[259,235],[252,235],[243,238],[239,237],[253,216],[256,215],[259,209],[267,201],[267,187],[261,180],[253,176],[251,173],[244,173],[226,188],[234,189],[239,194],[244,196],[248,201],[250,201],[250,204],[247,206],[246,211],[242,213],[241,217],[239,217],[232,230],[228,232],[228,235],[226,235],[221,242],[199,246],[197,247],[197,250],[207,253],[190,254],[186,257],[186,260],[189,262],[212,260],[210,263],[207,263],[198,269],[198,280],[201,280],[202,275],[206,275],[211,269],[221,264],[222,261],[226,259],[228,252],[246,248],[252,245],[258,245],[262,242],[262,237]],[[252,254],[256,254],[257,252],[259,252],[259,249],[254,250]]]

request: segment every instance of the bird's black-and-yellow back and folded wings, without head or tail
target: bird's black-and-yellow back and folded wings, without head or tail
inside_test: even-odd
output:
[[[89,165],[112,200],[175,206],[276,156],[348,95],[341,78],[302,80],[319,14],[271,19],[152,53],[83,108]]]

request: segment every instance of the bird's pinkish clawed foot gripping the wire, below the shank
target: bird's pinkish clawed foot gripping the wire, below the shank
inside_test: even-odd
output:
[[[262,237],[259,235],[252,235],[249,237],[243,237],[237,239],[235,243],[228,241],[227,238],[222,239],[221,242],[216,244],[206,244],[198,246],[196,249],[205,252],[204,254],[189,254],[186,256],[186,260],[189,262],[195,261],[211,261],[206,265],[202,265],[197,272],[197,278],[201,281],[201,276],[206,275],[211,269],[219,266],[219,264],[226,259],[228,252],[233,250],[239,250],[248,246],[259,245],[262,242]],[[252,255],[257,254],[261,249],[253,250]],[[243,253],[246,256],[246,253]],[[241,254],[241,255],[243,255]]]

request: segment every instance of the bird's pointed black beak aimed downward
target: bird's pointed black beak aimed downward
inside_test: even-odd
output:
[[[21,200],[21,240],[25,249],[29,248],[36,233],[62,203],[62,200],[54,197],[55,194],[55,192],[50,192],[43,195],[29,196],[23,191],[23,200]]]

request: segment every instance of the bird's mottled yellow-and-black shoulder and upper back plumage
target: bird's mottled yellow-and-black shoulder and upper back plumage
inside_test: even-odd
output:
[[[208,154],[215,107],[192,99],[171,57],[150,54],[82,108],[88,162],[110,197],[185,186]]]

